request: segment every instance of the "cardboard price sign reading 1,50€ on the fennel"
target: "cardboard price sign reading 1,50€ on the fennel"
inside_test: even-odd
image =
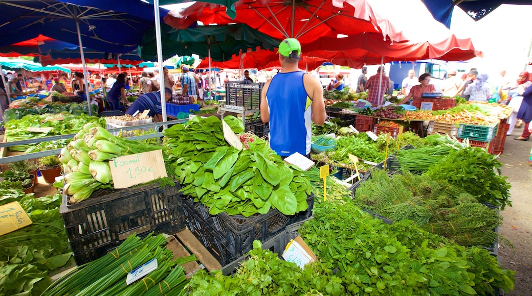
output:
[[[128,188],[168,177],[162,150],[120,156],[109,160],[115,189]]]

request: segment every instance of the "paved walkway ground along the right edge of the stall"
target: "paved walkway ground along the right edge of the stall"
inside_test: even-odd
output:
[[[512,136],[506,138],[504,154],[500,158],[504,164],[503,175],[508,176],[512,184],[512,207],[501,212],[504,222],[500,233],[513,244],[513,248],[504,243],[499,246],[503,267],[516,271],[514,290],[505,294],[512,296],[532,294],[532,165],[527,163],[532,140],[513,140],[522,130],[522,127],[516,128]]]

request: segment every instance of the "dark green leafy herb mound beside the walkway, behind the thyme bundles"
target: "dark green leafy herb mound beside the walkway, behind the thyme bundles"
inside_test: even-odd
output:
[[[502,163],[495,155],[479,147],[452,150],[442,161],[429,167],[426,174],[433,179],[443,179],[451,185],[504,210],[510,202],[510,183],[501,176]]]

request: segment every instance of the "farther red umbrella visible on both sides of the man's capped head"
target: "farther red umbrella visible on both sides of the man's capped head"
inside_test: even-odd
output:
[[[324,58],[302,56],[301,69],[315,69],[326,62]],[[234,56],[226,62],[211,62],[211,67],[222,69],[265,69],[280,67],[279,55],[271,50],[256,50]],[[209,60],[204,59],[197,68],[209,68]]]

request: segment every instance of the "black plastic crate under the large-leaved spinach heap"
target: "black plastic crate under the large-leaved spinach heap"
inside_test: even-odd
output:
[[[310,202],[313,207],[313,196]],[[244,217],[230,216],[227,213],[211,215],[209,208],[202,203],[195,203],[192,198],[184,197],[183,204],[189,230],[222,266],[244,256],[253,248],[254,240],[268,241],[290,223],[296,223],[312,215],[310,205],[309,210],[293,216],[271,209],[266,214]]]

